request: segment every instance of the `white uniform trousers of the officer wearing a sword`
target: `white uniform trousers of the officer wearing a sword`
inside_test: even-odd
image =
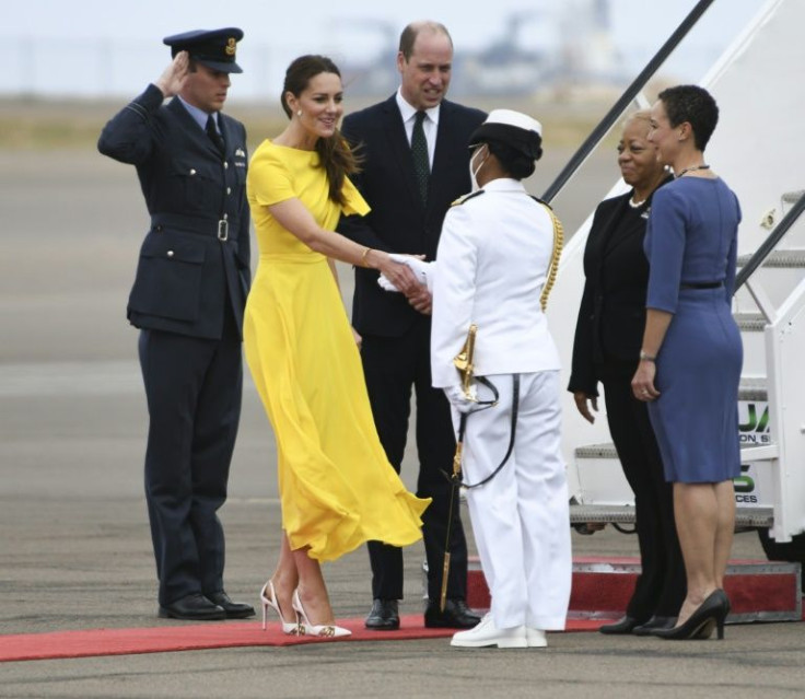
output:
[[[505,455],[512,426],[512,375],[488,377],[497,406],[471,413],[464,435],[464,481],[491,474]],[[477,385],[478,397],[491,397]],[[458,413],[453,411],[454,423]],[[521,374],[514,448],[505,466],[467,491],[476,546],[499,629],[564,629],[572,556],[564,462],[560,452],[559,372]]]

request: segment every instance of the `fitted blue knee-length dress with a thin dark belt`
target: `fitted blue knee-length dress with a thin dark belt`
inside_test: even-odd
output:
[[[656,360],[649,416],[666,480],[740,475],[738,384],[744,359],[732,316],[740,207],[720,178],[681,177],[654,194],[645,237],[646,306],[674,314]],[[691,284],[722,282],[716,288]]]

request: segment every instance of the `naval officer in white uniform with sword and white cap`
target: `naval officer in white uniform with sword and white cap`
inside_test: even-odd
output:
[[[433,386],[453,404],[464,438],[465,484],[476,544],[492,605],[452,645],[540,648],[545,631],[564,629],[570,601],[568,486],[560,453],[559,356],[540,306],[553,248],[548,209],[522,179],[541,151],[535,119],[497,109],[474,132],[470,172],[480,187],[444,220],[433,291]],[[498,404],[477,410],[453,359],[470,324],[478,327],[475,376],[492,382]],[[515,388],[518,382],[518,391]],[[490,392],[476,384],[477,397]],[[515,396],[518,397],[515,400]]]

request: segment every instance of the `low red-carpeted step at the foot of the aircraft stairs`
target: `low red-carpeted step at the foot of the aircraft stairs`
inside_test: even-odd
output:
[[[640,573],[637,558],[574,557],[569,618],[622,616]],[[800,563],[733,560],[726,570],[724,590],[732,611],[728,624],[802,620],[802,570]],[[488,609],[489,589],[477,557],[469,559],[467,603]]]

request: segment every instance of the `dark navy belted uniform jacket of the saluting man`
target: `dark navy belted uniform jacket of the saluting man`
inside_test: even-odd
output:
[[[242,327],[250,280],[246,130],[219,114],[222,160],[178,98],[162,103],[149,85],[98,140],[103,154],[137,166],[151,214],[128,318],[139,328],[219,339],[228,298]],[[223,219],[226,241],[219,238]]]

